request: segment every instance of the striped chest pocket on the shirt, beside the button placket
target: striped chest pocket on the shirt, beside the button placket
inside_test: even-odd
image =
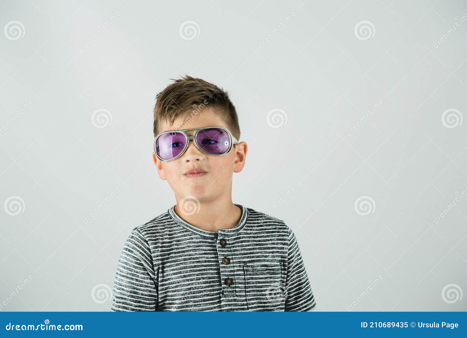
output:
[[[243,264],[245,298],[249,311],[280,311],[285,305],[282,261]]]

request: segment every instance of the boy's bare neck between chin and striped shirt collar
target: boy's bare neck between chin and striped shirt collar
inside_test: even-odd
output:
[[[185,201],[186,203],[186,201]],[[230,201],[212,201],[195,204],[193,206],[199,212],[194,212],[190,209],[190,212],[182,212],[184,210],[181,206],[180,201],[177,201],[175,206],[175,212],[183,219],[186,223],[189,223],[198,229],[206,231],[215,231],[218,229],[231,229],[240,222],[241,219],[241,208],[233,204]],[[186,206],[185,206],[185,209]]]

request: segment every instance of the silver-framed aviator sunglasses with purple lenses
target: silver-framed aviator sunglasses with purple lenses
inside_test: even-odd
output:
[[[196,130],[195,135],[186,135],[185,131],[189,130]],[[156,136],[154,152],[161,161],[171,161],[183,154],[191,139],[199,150],[212,156],[224,156],[232,149],[233,144],[238,143],[224,127],[169,130]]]

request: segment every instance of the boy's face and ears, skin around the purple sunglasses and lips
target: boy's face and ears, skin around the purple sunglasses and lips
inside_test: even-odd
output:
[[[182,124],[182,122],[184,122]],[[176,120],[173,124],[165,123],[159,130],[178,130],[220,126],[228,129],[212,109],[205,108],[191,120],[185,118]],[[193,136],[196,130],[186,131]],[[190,140],[188,148],[174,160],[161,161],[153,153],[153,161],[162,180],[167,180],[176,194],[177,202],[185,196],[195,196],[200,202],[209,202],[220,199],[222,196],[230,198],[232,191],[232,175],[239,173],[245,165],[247,144],[240,142],[234,144],[232,149],[224,156],[212,156],[199,150]],[[198,177],[186,175],[189,170],[197,168],[206,173]]]

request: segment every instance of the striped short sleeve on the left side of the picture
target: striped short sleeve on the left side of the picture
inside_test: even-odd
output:
[[[156,278],[148,241],[133,229],[118,261],[111,311],[156,311]]]

